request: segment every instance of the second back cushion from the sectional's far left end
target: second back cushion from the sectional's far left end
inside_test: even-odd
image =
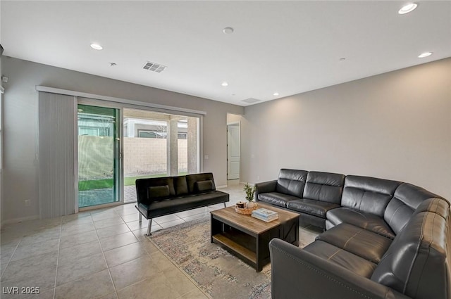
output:
[[[338,203],[345,184],[345,175],[329,172],[309,172],[304,187],[304,198]]]

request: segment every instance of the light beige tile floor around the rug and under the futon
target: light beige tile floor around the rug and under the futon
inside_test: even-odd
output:
[[[221,189],[228,206],[245,198],[242,185]],[[158,217],[152,231],[209,215],[223,204]],[[134,204],[47,220],[7,224],[0,234],[1,298],[207,298],[144,237]],[[313,241],[319,231],[301,228]],[[8,294],[39,287],[39,295]],[[30,289],[28,289],[30,290]]]

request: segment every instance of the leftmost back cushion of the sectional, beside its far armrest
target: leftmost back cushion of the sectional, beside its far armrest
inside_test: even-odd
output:
[[[302,198],[307,171],[281,169],[277,179],[276,192]]]

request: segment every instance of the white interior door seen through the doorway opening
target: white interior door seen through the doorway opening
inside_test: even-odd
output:
[[[240,179],[240,124],[227,125],[227,179]]]

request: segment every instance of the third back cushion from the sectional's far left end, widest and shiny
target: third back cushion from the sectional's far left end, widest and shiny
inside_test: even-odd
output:
[[[385,208],[401,183],[375,177],[348,175],[341,205],[383,217]]]

